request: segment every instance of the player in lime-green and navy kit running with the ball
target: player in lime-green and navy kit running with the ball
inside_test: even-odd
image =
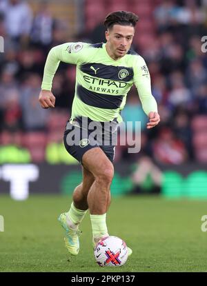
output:
[[[59,216],[66,230],[65,244],[72,255],[79,253],[79,224],[88,209],[93,246],[108,236],[106,213],[114,176],[112,161],[115,146],[91,142],[89,137],[82,134],[83,119],[101,125],[107,122],[114,125],[120,123],[120,110],[124,108],[127,93],[135,83],[142,108],[149,118],[147,128],[155,127],[160,121],[146,63],[139,54],[130,50],[137,21],[137,15],[132,12],[112,12],[104,21],[106,43],[63,43],[52,48],[46,60],[39,94],[42,108],[55,108],[55,96],[51,88],[59,62],[77,65],[75,97],[72,115],[64,133],[64,143],[66,150],[81,162],[83,181],[75,188],[70,210]],[[112,132],[109,132],[110,136]],[[71,133],[79,138],[72,144]],[[128,247],[128,254],[131,253]]]

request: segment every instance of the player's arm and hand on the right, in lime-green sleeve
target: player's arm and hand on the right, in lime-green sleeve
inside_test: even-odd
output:
[[[159,121],[159,113],[157,111],[157,102],[151,91],[150,73],[144,59],[137,57],[134,66],[134,82],[139,94],[142,108],[149,118],[147,129],[155,127]]]

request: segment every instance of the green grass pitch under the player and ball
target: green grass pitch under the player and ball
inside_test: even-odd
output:
[[[201,232],[207,201],[112,198],[109,233],[133,250],[122,267],[95,263],[88,214],[80,227],[79,255],[67,253],[57,217],[70,203],[66,196],[30,196],[22,202],[0,196],[0,272],[207,272],[207,232]]]

